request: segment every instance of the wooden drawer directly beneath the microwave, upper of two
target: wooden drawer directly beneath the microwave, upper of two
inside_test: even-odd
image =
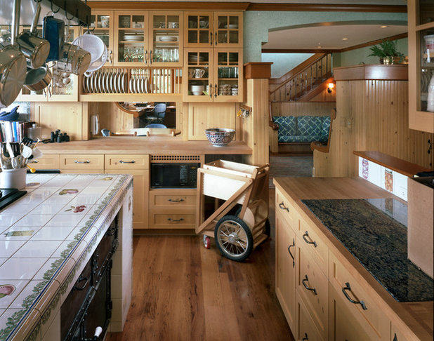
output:
[[[157,189],[150,191],[150,208],[179,208],[183,211],[196,210],[196,189]]]

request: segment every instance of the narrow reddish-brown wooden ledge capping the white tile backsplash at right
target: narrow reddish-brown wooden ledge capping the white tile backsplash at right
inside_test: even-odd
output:
[[[369,161],[378,163],[381,166],[387,167],[391,170],[395,170],[397,173],[401,173],[409,178],[412,178],[414,174],[419,172],[428,172],[430,169],[416,165],[416,163],[411,163],[398,159],[397,157],[390,156],[376,151],[354,151],[357,156],[362,156],[362,158]]]

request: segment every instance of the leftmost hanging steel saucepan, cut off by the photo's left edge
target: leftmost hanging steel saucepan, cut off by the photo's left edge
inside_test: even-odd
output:
[[[11,45],[0,46],[0,104],[11,105],[17,98],[25,81],[27,62],[25,56],[15,45],[15,36],[20,21],[20,0],[13,3],[13,25]]]

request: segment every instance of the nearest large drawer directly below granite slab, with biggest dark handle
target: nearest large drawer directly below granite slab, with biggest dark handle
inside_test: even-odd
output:
[[[389,340],[390,321],[376,305],[375,300],[364,290],[364,286],[368,284],[364,284],[360,279],[356,280],[332,253],[330,253],[329,282],[340,298],[339,304],[346,311],[343,316],[351,314],[368,335],[375,335],[375,340]],[[353,339],[354,336],[348,340]]]

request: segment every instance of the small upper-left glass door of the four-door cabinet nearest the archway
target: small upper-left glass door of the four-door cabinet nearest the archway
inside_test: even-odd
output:
[[[213,44],[212,13],[185,14],[185,46],[208,47]]]

